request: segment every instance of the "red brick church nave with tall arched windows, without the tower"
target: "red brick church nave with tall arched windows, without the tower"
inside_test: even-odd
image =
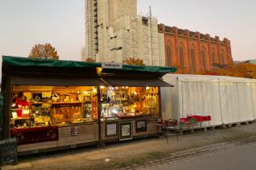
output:
[[[211,70],[213,65],[233,63],[230,40],[211,38],[177,27],[158,25],[158,33],[163,34],[165,44],[165,65],[178,66],[186,73]]]

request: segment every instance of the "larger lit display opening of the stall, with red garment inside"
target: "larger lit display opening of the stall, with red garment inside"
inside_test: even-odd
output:
[[[10,127],[65,126],[97,121],[96,87],[14,85]]]

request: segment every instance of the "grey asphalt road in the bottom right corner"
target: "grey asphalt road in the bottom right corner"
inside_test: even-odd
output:
[[[256,144],[188,158],[158,166],[158,170],[256,170]]]

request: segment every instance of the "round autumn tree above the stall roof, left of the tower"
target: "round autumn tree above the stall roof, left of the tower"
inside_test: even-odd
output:
[[[31,49],[29,57],[54,60],[58,60],[59,58],[57,50],[50,45],[50,43],[46,43],[45,45],[34,45],[34,47]]]

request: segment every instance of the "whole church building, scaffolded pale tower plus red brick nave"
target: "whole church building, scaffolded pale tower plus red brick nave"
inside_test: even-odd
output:
[[[158,24],[137,11],[138,0],[86,0],[86,46],[82,61],[138,59],[145,65],[176,66],[201,73],[232,64],[230,40]]]

